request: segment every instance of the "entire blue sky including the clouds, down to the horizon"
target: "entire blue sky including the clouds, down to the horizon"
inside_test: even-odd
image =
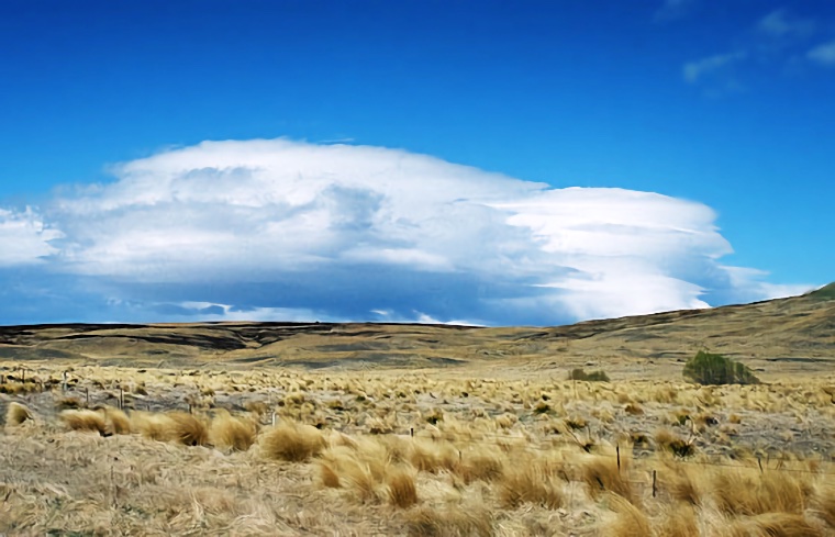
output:
[[[11,0],[0,51],[3,324],[557,324],[833,280],[832,2]]]

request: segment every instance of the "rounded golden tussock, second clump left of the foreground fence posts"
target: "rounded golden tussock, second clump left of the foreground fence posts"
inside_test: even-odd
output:
[[[559,480],[536,463],[506,469],[499,483],[499,497],[510,508],[533,504],[556,510],[565,503]]]

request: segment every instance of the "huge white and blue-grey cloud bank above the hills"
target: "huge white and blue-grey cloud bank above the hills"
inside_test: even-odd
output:
[[[557,324],[795,291],[721,265],[713,211],[658,193],[288,139],[205,142],[113,172],[41,213],[0,211],[14,300],[55,321]],[[15,313],[32,312],[0,321]]]

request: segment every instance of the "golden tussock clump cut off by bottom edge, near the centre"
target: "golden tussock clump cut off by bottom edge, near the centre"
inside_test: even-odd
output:
[[[404,515],[410,536],[426,537],[490,537],[494,535],[492,515],[477,506],[421,505]]]

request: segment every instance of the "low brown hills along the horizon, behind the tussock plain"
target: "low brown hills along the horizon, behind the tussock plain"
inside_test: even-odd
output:
[[[530,371],[599,366],[624,374],[666,374],[700,348],[765,371],[832,371],[835,284],[789,299],[545,328],[366,323],[0,327],[0,360],[125,366],[477,366]]]

